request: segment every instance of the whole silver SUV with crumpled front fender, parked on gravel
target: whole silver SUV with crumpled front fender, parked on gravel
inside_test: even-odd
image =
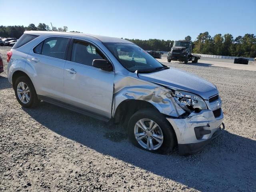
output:
[[[224,124],[212,83],[158,62],[120,38],[27,31],[8,55],[8,79],[26,108],[40,100],[122,123],[139,148],[201,150]]]

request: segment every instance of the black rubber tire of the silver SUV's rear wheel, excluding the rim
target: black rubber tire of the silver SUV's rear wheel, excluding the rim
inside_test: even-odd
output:
[[[17,93],[17,86],[20,82],[24,82],[26,83],[26,85],[28,86],[29,90],[30,90],[30,100],[28,103],[24,104],[20,101],[19,97],[18,97],[18,93]],[[32,108],[34,106],[36,106],[37,102],[38,102],[38,98],[37,98],[37,94],[36,94],[36,90],[31,82],[31,80],[26,77],[26,76],[21,76],[18,77],[14,83],[14,92],[15,92],[15,96],[16,99],[18,100],[19,104],[25,108]]]

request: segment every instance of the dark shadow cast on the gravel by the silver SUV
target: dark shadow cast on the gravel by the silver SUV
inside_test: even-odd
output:
[[[255,140],[224,131],[198,154],[160,155],[134,147],[124,139],[126,133],[119,126],[108,127],[104,122],[45,102],[36,109],[23,110],[53,132],[131,164],[131,171],[139,167],[202,191],[256,190]]]

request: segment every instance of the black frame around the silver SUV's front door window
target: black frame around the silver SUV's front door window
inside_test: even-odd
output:
[[[80,64],[80,65],[83,65],[83,66],[88,66],[88,67],[95,68],[94,66],[85,65],[85,64],[82,64],[82,63],[77,63],[77,62],[71,61],[71,54],[72,54],[72,49],[73,49],[74,40],[78,40],[78,41],[82,41],[82,42],[91,44],[92,46],[94,46],[95,48],[97,48],[97,49],[101,52],[101,54],[103,54],[103,55],[107,58],[107,61],[112,65],[113,70],[112,70],[112,71],[109,71],[109,72],[115,72],[114,65],[113,65],[112,61],[110,60],[110,58],[108,57],[108,55],[107,55],[98,45],[96,45],[94,42],[92,42],[92,41],[90,41],[90,40],[86,40],[86,39],[80,39],[80,38],[73,37],[73,38],[70,40],[70,45],[69,45],[68,55],[67,55],[67,61],[72,62],[72,63],[75,63],[75,64]],[[98,69],[98,68],[96,68],[96,69]]]

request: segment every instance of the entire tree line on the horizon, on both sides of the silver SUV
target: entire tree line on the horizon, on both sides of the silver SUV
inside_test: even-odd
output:
[[[68,30],[67,26],[49,27],[44,23],[29,24],[28,26],[0,26],[0,37],[20,38],[25,30],[41,30],[41,31],[64,31]],[[71,31],[78,32],[78,31]],[[126,39],[129,40],[144,50],[159,50],[170,51],[171,46],[174,44],[173,40],[160,40],[160,39]],[[184,40],[191,41],[190,36],[186,36]],[[256,57],[256,37],[254,34],[245,34],[234,38],[231,34],[216,34],[211,37],[208,32],[200,33],[196,40],[193,42],[193,53],[198,54],[211,54],[223,56],[238,56],[238,57]]]

